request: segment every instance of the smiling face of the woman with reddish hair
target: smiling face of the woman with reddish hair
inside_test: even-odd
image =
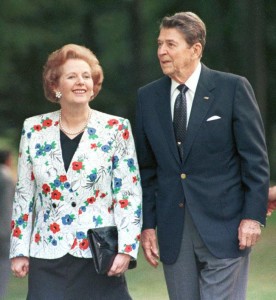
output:
[[[81,59],[68,59],[61,68],[56,89],[62,94],[60,104],[89,102],[93,96],[93,79],[88,63]]]

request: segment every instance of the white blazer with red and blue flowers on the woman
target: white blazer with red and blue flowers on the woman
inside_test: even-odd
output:
[[[25,120],[19,148],[10,258],[91,257],[87,230],[116,225],[119,252],[136,258],[142,192],[128,120],[92,110],[64,168],[59,111]]]

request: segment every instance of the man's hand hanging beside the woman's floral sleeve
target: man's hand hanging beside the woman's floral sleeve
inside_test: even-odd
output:
[[[158,266],[159,250],[157,247],[157,238],[155,229],[145,229],[141,234],[142,248],[146,260],[153,267]]]

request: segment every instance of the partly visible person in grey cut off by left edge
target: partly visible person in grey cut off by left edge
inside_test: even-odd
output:
[[[0,299],[5,298],[10,276],[10,220],[14,196],[11,152],[0,150]]]

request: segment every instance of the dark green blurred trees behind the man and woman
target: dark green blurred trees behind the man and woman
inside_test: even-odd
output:
[[[49,53],[67,43],[89,47],[103,66],[92,107],[133,122],[137,88],[162,76],[159,21],[177,11],[205,21],[203,63],[252,83],[275,151],[276,1],[264,0],[1,0],[0,135],[12,128],[18,143],[26,117],[58,109],[44,100],[41,74]]]

